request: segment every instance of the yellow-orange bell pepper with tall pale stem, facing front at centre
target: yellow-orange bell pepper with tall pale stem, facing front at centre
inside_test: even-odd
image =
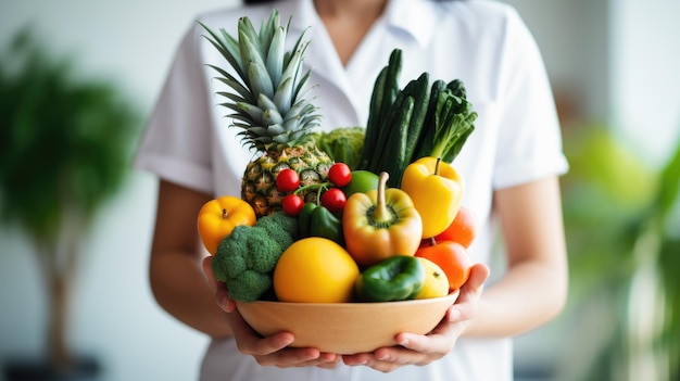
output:
[[[408,194],[386,189],[380,174],[377,190],[352,194],[344,205],[342,229],[348,252],[361,266],[394,255],[414,255],[420,244],[423,223]]]

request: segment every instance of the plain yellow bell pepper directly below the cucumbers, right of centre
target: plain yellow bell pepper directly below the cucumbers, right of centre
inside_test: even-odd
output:
[[[421,157],[406,167],[401,189],[408,193],[423,218],[423,238],[435,237],[453,223],[464,188],[458,172],[438,157]]]

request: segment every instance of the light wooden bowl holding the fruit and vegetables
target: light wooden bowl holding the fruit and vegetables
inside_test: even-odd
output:
[[[243,319],[263,336],[288,331],[293,347],[354,354],[396,345],[399,332],[425,334],[444,317],[458,291],[435,299],[383,303],[237,302]]]

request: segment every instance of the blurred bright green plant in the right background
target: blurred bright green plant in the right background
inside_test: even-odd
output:
[[[565,152],[577,327],[561,379],[677,380],[680,142],[659,170],[605,127],[567,131]],[[579,360],[587,363],[580,371]]]

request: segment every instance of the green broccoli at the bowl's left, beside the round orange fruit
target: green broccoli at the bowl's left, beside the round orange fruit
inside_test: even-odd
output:
[[[272,289],[278,258],[297,236],[294,218],[282,212],[261,217],[255,226],[237,226],[213,257],[213,272],[235,301],[253,302]]]

